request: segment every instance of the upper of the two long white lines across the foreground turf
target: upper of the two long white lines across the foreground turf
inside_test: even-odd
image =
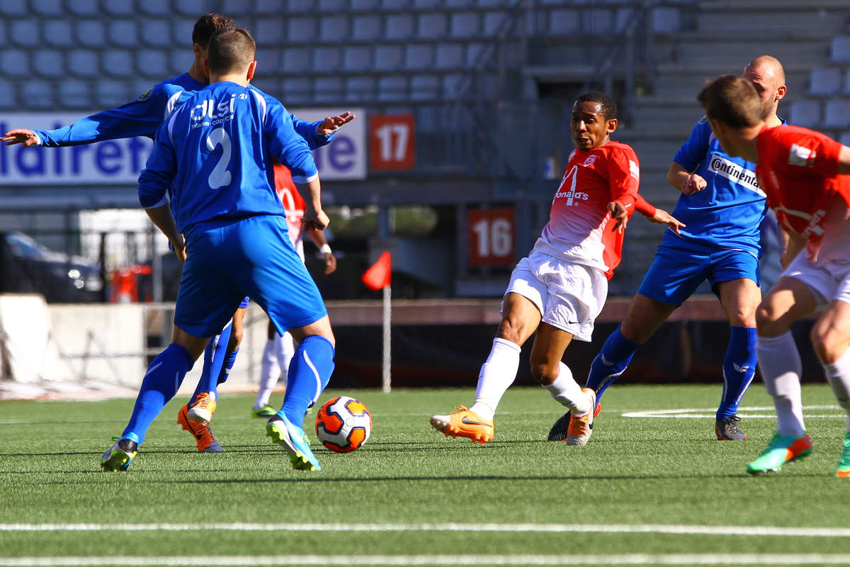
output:
[[[695,536],[850,537],[850,527],[690,524],[0,524],[3,531],[465,531],[653,533]]]

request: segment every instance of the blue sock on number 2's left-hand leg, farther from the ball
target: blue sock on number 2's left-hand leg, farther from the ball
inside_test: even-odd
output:
[[[160,414],[162,408],[177,394],[177,389],[186,372],[192,369],[195,360],[178,344],[171,343],[148,366],[148,371],[139,388],[133,416],[122,433],[122,439],[133,439],[139,445],[150,427],[150,422]]]

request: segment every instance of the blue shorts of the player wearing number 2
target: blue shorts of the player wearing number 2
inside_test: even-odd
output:
[[[186,252],[174,324],[195,337],[221,332],[246,296],[281,335],[327,315],[280,215],[195,226],[186,236]]]

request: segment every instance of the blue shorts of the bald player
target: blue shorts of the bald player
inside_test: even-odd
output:
[[[681,305],[703,281],[717,294],[718,283],[746,278],[762,285],[758,255],[751,250],[711,248],[661,242],[638,293],[660,303]]]

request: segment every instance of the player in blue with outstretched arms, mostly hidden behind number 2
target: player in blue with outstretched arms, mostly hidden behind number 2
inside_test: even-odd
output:
[[[74,122],[70,126],[54,130],[30,130],[16,128],[8,131],[0,141],[7,145],[41,145],[63,147],[91,144],[108,139],[145,136],[153,139],[156,128],[171,112],[191,94],[206,88],[208,77],[204,71],[207,57],[207,42],[214,31],[233,25],[222,14],[204,14],[195,22],[192,30],[194,60],[189,71],[167,81],[157,83],[138,99],[116,109],[102,111]],[[292,115],[290,115],[292,116]],[[307,140],[311,149],[328,144],[333,133],[343,124],[354,119],[345,112],[339,116],[326,116],[322,121],[304,122],[292,116],[297,133]],[[218,452],[221,446],[209,428],[209,420],[217,405],[217,386],[226,379],[239,349],[247,300],[235,311],[232,325],[224,327],[221,334],[213,337],[204,354],[204,367],[195,393],[188,404],[178,411],[178,423],[195,437],[198,451]]]

